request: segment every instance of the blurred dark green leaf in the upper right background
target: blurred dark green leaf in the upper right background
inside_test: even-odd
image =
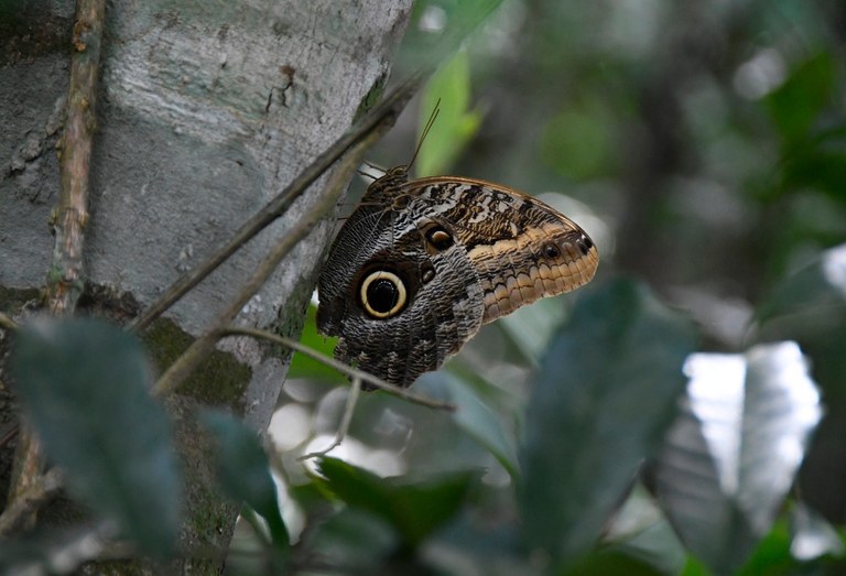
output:
[[[776,127],[789,142],[803,139],[834,95],[834,59],[821,52],[800,64],[766,106]]]

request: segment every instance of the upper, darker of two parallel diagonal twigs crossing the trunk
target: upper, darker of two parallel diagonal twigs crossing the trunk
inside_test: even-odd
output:
[[[301,172],[284,191],[271,199],[258,214],[243,222],[231,239],[204,262],[174,282],[159,298],[129,325],[133,332],[143,332],[192,287],[210,274],[241,246],[279,218],[314,181],[326,172],[347,150],[368,138],[373,131],[393,126],[405,104],[411,99],[430,72],[413,75],[373,107],[360,121],[341,135],[328,150]]]

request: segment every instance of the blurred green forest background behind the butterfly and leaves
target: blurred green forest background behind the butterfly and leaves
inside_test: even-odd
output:
[[[596,241],[595,283],[619,274],[647,283],[695,320],[703,351],[798,340],[826,410],[800,490],[829,522],[846,522],[844,306],[814,316],[803,298],[821,284],[789,280],[846,240],[846,2],[423,1],[393,78],[431,58],[425,46],[468,12],[481,25],[368,160],[408,163],[441,99],[417,175],[499,182],[556,206]],[[366,184],[356,183],[341,216]],[[799,312],[769,322],[773,294]],[[486,326],[446,370],[414,385],[460,398],[464,421],[364,394],[330,454],[382,476],[479,467],[490,487],[480,508],[507,520],[502,495],[532,374],[581,297],[547,298]],[[333,346],[313,318],[304,341]],[[291,377],[271,425],[288,463],[329,444],[347,398],[341,377],[303,359]]]

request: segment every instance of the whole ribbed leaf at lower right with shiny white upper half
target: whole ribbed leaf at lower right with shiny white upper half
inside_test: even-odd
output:
[[[657,491],[687,548],[729,573],[770,531],[820,420],[820,394],[795,343],[696,354],[685,371]]]

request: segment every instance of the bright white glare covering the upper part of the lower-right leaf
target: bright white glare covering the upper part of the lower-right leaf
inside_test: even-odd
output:
[[[690,378],[691,411],[702,423],[723,492],[752,507],[760,504],[763,493],[780,499],[802,461],[809,433],[822,416],[820,392],[799,345],[763,344],[745,355],[694,354],[684,372]],[[766,474],[757,472],[760,467],[742,465],[746,457],[761,457],[761,443],[767,443]],[[746,475],[742,486],[741,474]],[[766,510],[747,512],[762,526],[768,522]]]

